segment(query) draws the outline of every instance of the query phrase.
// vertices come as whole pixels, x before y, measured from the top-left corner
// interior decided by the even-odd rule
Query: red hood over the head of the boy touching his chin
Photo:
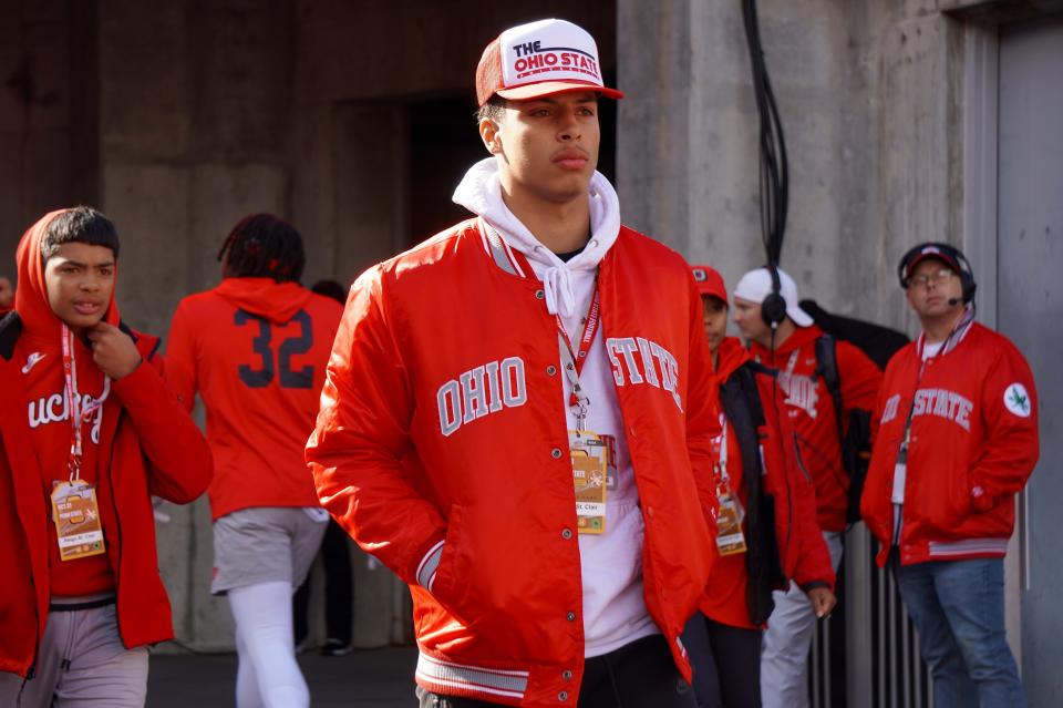
[[[48,286],[44,284],[44,261],[41,258],[41,242],[44,230],[52,219],[68,212],[59,209],[42,216],[19,242],[16,250],[16,264],[19,271],[18,289],[14,291],[14,309],[22,320],[25,334],[34,339],[45,339],[56,348],[60,346],[62,320],[52,311],[48,301]],[[104,321],[118,326],[118,306],[114,301],[117,291],[118,265],[114,266],[115,287],[111,291],[111,302],[104,312]]]

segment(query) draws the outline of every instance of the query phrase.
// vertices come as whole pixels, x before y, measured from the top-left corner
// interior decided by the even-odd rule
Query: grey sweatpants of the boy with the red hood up
[[[0,673],[6,707],[143,708],[146,698],[147,648],[122,646],[114,605],[48,613],[33,678]]]

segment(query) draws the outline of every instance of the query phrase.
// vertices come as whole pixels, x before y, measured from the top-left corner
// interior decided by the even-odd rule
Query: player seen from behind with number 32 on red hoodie
[[[324,534],[303,448],[342,307],[299,284],[302,237],[287,222],[241,219],[218,259],[221,283],[184,298],[166,376],[185,407],[196,392],[214,450],[214,578],[236,620],[236,702],[307,706],[295,658],[291,595]]]

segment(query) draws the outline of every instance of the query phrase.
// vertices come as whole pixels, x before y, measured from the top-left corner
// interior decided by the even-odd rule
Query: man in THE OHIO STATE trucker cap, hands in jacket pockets
[[[410,584],[422,706],[693,706],[712,365],[685,261],[595,171],[600,72],[561,20],[487,47],[476,218],[363,274],[329,361],[307,455]]]

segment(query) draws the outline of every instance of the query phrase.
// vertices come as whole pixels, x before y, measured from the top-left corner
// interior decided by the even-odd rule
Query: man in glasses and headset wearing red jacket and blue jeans
[[[898,268],[922,334],[894,355],[861,499],[933,676],[938,708],[1026,705],[1004,636],[1004,552],[1038,462],[1038,394],[1022,353],[974,321],[957,248]]]

